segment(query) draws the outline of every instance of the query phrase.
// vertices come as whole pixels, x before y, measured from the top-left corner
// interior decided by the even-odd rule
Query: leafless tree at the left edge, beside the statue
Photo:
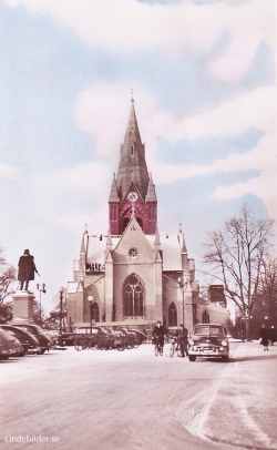
[[[6,321],[11,316],[11,303],[6,300],[14,294],[14,282],[17,279],[17,270],[9,265],[3,257],[3,249],[0,248],[0,317]]]

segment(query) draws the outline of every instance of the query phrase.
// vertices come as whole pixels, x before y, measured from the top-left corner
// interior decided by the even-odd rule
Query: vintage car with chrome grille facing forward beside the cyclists
[[[222,358],[227,361],[229,357],[229,342],[227,330],[218,324],[197,324],[193,334],[188,336],[187,354],[189,361],[196,357]]]

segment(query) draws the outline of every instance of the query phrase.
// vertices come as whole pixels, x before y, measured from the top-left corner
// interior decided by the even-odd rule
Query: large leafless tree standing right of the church
[[[204,263],[212,268],[208,275],[224,285],[226,297],[237,306],[245,319],[247,339],[263,260],[270,247],[271,225],[269,219],[255,221],[252,211],[244,205],[239,216],[227,221],[222,232],[208,234],[206,244]]]

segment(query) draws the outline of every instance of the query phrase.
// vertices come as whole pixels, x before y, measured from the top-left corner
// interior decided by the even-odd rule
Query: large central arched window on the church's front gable
[[[144,287],[135,274],[130,275],[123,284],[123,308],[125,317],[144,316]]]

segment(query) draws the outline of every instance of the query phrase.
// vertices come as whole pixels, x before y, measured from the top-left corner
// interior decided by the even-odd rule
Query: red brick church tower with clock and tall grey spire
[[[112,235],[122,235],[132,215],[135,216],[145,235],[156,231],[157,200],[152,175],[145,161],[145,145],[142,143],[136,121],[134,100],[121,145],[121,158],[117,174],[109,198],[109,222]]]

